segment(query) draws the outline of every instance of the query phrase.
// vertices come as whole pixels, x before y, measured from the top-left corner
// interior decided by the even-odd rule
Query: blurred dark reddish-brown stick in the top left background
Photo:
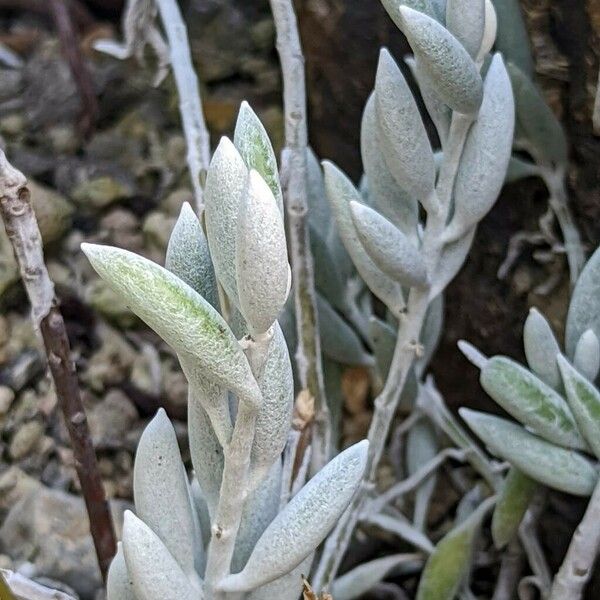
[[[84,135],[89,135],[96,124],[99,113],[94,82],[81,53],[78,35],[71,21],[69,6],[65,0],[50,0],[50,7],[63,53],[69,62],[81,97],[79,126]]]

